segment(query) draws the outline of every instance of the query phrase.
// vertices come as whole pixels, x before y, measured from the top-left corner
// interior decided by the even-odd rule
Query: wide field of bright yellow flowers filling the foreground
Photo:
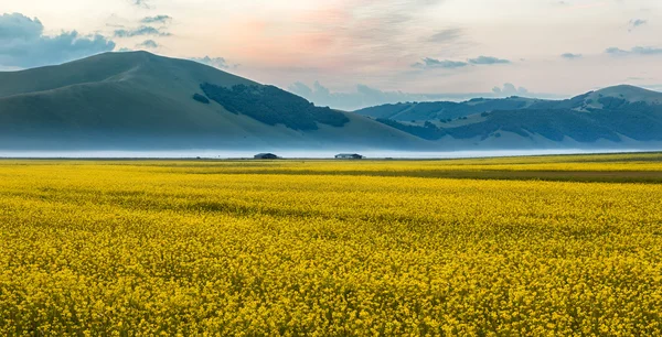
[[[0,335],[659,336],[661,173],[0,161]]]

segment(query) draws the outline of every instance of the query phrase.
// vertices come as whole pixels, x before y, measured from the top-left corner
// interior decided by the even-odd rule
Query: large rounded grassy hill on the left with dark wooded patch
[[[2,150],[420,149],[273,86],[147,52],[0,73]]]

